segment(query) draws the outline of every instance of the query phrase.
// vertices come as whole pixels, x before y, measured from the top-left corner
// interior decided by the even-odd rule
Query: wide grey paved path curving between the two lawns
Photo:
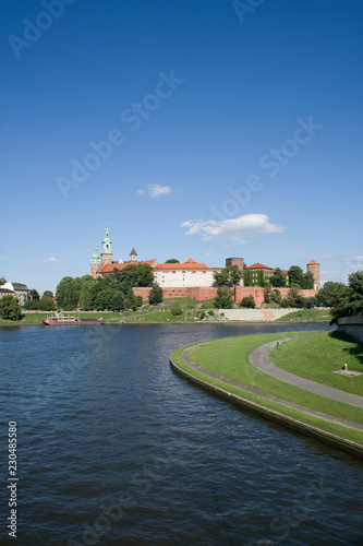
[[[278,342],[285,343],[291,340],[297,340],[298,337],[302,336],[294,335],[293,337],[283,337],[282,340],[278,340]],[[293,384],[294,387],[299,387],[300,389],[304,389],[305,391],[313,392],[314,394],[318,394],[319,396],[336,400],[337,402],[343,402],[344,404],[350,404],[363,410],[363,396],[340,391],[339,389],[317,383],[316,381],[312,381],[311,379],[304,379],[302,377],[295,376],[294,373],[291,373],[290,371],[282,370],[278,366],[275,366],[275,364],[273,364],[269,359],[269,353],[274,347],[276,347],[276,341],[265,343],[264,345],[261,345],[261,347],[257,347],[255,351],[253,351],[250,355],[250,363],[252,364],[252,366],[257,368],[259,371],[267,373],[267,376],[279,379],[280,381],[283,381],[286,383]]]

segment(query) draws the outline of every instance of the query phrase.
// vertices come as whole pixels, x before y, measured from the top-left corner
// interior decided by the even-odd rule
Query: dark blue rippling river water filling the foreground
[[[0,329],[0,545],[363,544],[360,461],[244,413],[169,365],[186,343],[295,330]],[[16,542],[7,538],[9,422]]]

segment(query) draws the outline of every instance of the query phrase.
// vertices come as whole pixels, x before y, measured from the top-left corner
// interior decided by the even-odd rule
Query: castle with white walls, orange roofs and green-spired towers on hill
[[[121,271],[126,265],[137,263],[147,263],[150,265],[154,270],[155,282],[161,288],[171,290],[170,294],[172,295],[176,295],[176,290],[182,288],[210,288],[215,284],[214,273],[222,271],[222,268],[208,268],[205,263],[196,262],[192,258],[183,263],[159,263],[156,258],[138,261],[134,248],[131,250],[128,261],[123,261],[122,259],[114,261],[110,230],[107,226],[100,254],[97,244],[95,245],[90,260],[90,274],[94,278],[97,278],[112,273],[113,269]],[[276,271],[274,268],[262,263],[254,263],[245,268],[243,258],[227,258],[226,268],[231,265],[238,265],[241,271],[244,269],[250,270],[252,272],[253,284],[257,284],[258,272],[263,272],[263,275],[268,278]],[[315,260],[312,260],[306,264],[306,271],[312,272],[314,290],[317,290],[319,288],[319,264]],[[288,271],[282,270],[282,273],[286,275],[288,286]]]

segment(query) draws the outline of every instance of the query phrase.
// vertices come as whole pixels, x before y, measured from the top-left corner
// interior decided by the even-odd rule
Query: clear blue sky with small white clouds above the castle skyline
[[[0,276],[363,269],[359,0],[2,0]]]

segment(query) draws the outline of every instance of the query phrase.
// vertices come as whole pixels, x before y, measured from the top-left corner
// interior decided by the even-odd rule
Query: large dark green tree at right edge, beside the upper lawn
[[[363,271],[348,277],[348,286],[339,285],[332,293],[331,322],[341,317],[363,314]]]

